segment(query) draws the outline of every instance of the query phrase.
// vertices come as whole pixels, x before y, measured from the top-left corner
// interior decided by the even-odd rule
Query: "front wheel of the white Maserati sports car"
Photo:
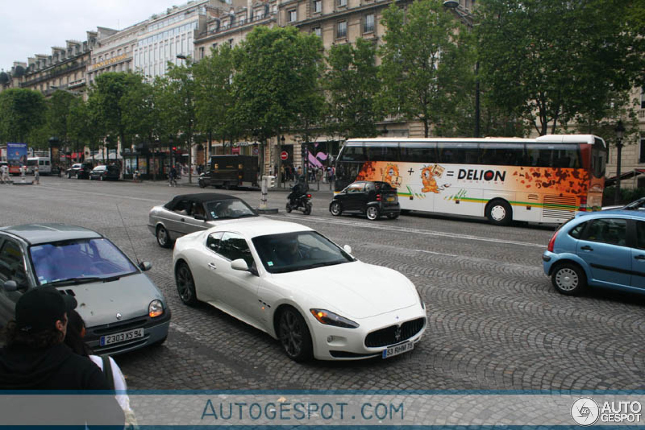
[[[312,358],[312,336],[303,316],[296,309],[286,308],[280,313],[278,333],[287,357],[295,362]]]

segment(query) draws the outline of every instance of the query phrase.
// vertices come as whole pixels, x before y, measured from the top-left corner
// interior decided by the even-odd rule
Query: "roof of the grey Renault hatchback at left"
[[[97,239],[103,237],[103,235],[93,230],[55,222],[6,226],[1,227],[0,232],[20,237],[32,245],[58,242],[59,240]]]

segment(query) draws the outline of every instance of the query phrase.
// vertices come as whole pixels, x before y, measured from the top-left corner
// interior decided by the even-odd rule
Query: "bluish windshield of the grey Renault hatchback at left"
[[[39,284],[69,280],[113,279],[137,273],[137,268],[107,239],[80,239],[29,248]]]

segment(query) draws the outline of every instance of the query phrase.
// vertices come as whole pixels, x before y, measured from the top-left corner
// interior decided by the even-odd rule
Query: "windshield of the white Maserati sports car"
[[[297,231],[253,238],[253,246],[269,273],[321,268],[353,258],[315,231]]]

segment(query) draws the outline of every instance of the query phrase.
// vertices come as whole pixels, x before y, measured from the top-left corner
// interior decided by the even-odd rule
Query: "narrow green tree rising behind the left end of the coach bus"
[[[329,93],[330,128],[346,139],[378,134],[376,122],[382,117],[375,102],[380,88],[375,55],[375,45],[361,37],[355,44],[329,50],[324,88]]]

